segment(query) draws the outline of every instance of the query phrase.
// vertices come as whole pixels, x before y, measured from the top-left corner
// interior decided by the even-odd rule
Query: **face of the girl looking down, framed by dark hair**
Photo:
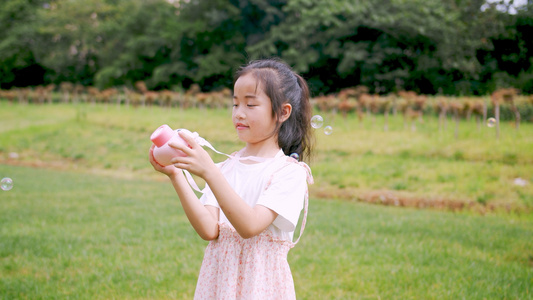
[[[247,146],[277,145],[276,118],[272,103],[255,77],[248,73],[237,79],[233,91],[233,125]]]

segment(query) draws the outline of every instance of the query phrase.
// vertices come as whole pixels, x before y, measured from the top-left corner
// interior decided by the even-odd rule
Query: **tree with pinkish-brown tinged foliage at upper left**
[[[92,85],[105,44],[105,22],[117,14],[116,6],[101,0],[57,0],[39,10],[38,43],[32,51],[50,70],[50,79]]]

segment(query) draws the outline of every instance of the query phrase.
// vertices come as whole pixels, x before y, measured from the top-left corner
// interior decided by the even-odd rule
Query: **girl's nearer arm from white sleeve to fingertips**
[[[174,166],[202,177],[209,184],[220,208],[241,237],[254,237],[274,222],[278,215],[276,212],[262,205],[250,207],[229,185],[209,154],[192,137],[182,132],[179,134],[191,148],[169,144],[187,154],[186,157],[174,158]]]

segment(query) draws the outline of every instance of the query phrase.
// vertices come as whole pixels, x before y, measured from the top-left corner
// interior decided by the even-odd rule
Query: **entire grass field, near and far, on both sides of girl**
[[[533,299],[533,124],[324,120],[299,299]],[[227,110],[0,101],[0,299],[192,298],[207,242],[147,160],[161,124],[242,147]],[[431,203],[475,209],[395,207]]]

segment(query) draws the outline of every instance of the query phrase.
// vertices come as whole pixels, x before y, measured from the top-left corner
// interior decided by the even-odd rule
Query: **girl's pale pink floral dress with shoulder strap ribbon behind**
[[[312,183],[309,167],[305,167],[308,182]],[[300,236],[308,202],[306,192]],[[218,238],[209,242],[205,250],[194,299],[296,299],[287,254],[300,237],[292,242],[275,237],[266,229],[243,239],[227,223],[220,223],[219,229]]]

